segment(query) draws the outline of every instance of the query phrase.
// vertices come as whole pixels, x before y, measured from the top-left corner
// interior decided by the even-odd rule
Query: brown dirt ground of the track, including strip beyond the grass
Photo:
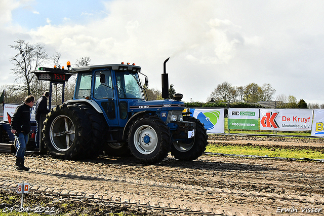
[[[324,146],[323,139],[228,135],[210,136],[209,143],[316,151]],[[211,155],[184,162],[169,155],[158,164],[143,165],[134,158],[63,161],[31,155],[26,158],[30,171],[18,171],[14,160],[13,154],[0,154],[0,202],[8,201],[6,194],[14,196],[17,184],[25,181],[29,183],[26,200],[33,210],[48,207],[56,214],[69,211],[69,215],[120,211],[135,215],[324,215],[322,162]]]

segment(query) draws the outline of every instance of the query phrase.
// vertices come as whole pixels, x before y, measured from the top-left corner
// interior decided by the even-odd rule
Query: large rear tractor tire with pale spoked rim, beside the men
[[[55,158],[76,160],[87,157],[91,126],[85,112],[72,104],[54,107],[44,121],[44,141]]]

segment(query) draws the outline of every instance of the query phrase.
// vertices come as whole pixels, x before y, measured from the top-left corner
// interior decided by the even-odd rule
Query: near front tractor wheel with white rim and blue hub
[[[128,145],[132,155],[142,163],[157,163],[168,156],[171,133],[158,117],[139,117],[130,126]]]

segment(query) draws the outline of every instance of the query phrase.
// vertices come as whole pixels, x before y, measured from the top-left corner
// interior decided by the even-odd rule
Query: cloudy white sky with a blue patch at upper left
[[[170,57],[169,85],[186,102],[228,82],[324,103],[322,0],[0,0],[0,37],[0,86],[14,84],[9,45],[25,40],[62,66],[136,63],[158,90]]]

